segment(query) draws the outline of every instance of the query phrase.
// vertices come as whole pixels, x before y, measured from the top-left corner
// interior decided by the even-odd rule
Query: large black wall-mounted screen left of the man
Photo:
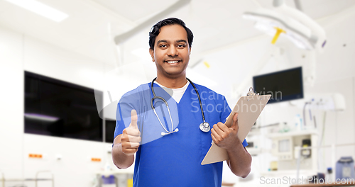
[[[94,89],[40,74],[25,72],[24,120],[25,133],[103,141]]]

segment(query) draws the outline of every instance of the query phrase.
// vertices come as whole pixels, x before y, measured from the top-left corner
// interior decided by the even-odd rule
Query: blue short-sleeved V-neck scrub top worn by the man
[[[138,114],[141,146],[136,153],[133,186],[222,186],[222,162],[201,165],[211,147],[211,132],[202,132],[200,103],[190,84],[179,103],[153,84],[156,96],[168,102],[174,129],[178,132],[161,136],[165,132],[151,108],[151,83],[129,91],[119,101],[114,137],[131,123],[131,110]],[[231,109],[224,96],[195,84],[200,93],[204,117],[211,125],[224,123]],[[155,111],[169,131],[173,130],[170,115],[163,102],[155,103]],[[243,142],[244,147],[247,144]]]

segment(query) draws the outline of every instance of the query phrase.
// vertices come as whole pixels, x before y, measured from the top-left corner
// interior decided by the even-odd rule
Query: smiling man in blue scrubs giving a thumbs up
[[[192,40],[191,30],[178,18],[156,23],[149,52],[157,77],[119,101],[112,158],[125,169],[136,154],[133,186],[222,186],[222,162],[201,165],[212,140],[226,149],[226,162],[236,176],[250,172],[247,143],[237,137],[237,114],[226,127],[231,109],[224,96],[186,78]]]

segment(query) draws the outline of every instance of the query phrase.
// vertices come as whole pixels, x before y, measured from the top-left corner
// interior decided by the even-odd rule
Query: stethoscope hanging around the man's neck
[[[173,130],[173,129],[174,129],[173,118],[171,118],[171,113],[170,113],[170,109],[169,109],[168,102],[166,102],[163,97],[160,97],[160,96],[156,96],[156,95],[155,95],[155,92],[154,92],[154,89],[153,89],[153,83],[154,83],[155,79],[156,79],[156,77],[153,79],[152,84],[151,84],[151,91],[152,91],[152,93],[153,93],[153,98],[151,99],[151,107],[152,107],[152,109],[153,109],[153,111],[154,111],[156,117],[158,118],[160,125],[161,125],[161,126],[163,127],[163,129],[166,131],[166,132],[161,132],[161,135],[162,135],[162,136],[170,135],[170,134],[173,133],[173,132],[178,132],[179,129],[176,128],[175,130]],[[186,78],[186,79],[187,79],[187,78]],[[190,79],[187,79],[187,81],[190,81]],[[197,97],[199,98],[199,102],[200,102],[200,108],[201,108],[202,120],[203,120],[203,122],[200,124],[200,130],[202,130],[202,132],[209,132],[209,130],[211,129],[211,127],[209,126],[209,123],[207,123],[206,120],[204,120],[204,113],[203,113],[203,108],[202,108],[202,103],[201,103],[200,94],[199,94],[199,92],[197,91],[195,84],[192,83],[192,81],[190,81],[190,84],[191,84],[192,86],[194,86],[194,89],[195,89],[195,91],[196,91]],[[169,116],[170,116],[171,130],[172,130],[172,131],[168,131],[168,130],[164,127],[163,123],[161,123],[160,118],[159,118],[158,114],[157,114],[156,111],[155,111],[155,107],[154,107],[154,104],[153,104],[154,99],[160,99],[160,100],[161,100],[160,102],[165,103],[166,108],[168,108],[168,113],[169,113]],[[157,101],[157,102],[159,102],[159,101]],[[155,103],[156,103],[156,102],[155,102]]]

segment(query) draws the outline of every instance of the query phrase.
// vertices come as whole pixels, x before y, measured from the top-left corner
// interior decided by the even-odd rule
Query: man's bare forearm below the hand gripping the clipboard
[[[236,176],[245,178],[251,171],[251,155],[246,152],[241,142],[234,149],[227,150],[229,160],[227,164]]]

